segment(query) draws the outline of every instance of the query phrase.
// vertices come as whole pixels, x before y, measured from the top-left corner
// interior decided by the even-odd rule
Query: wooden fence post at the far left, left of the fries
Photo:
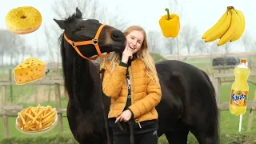
[[[6,106],[7,102],[7,94],[6,94],[6,86],[2,86],[2,106]],[[9,137],[9,125],[8,125],[8,117],[7,115],[2,115],[3,122],[3,137]]]

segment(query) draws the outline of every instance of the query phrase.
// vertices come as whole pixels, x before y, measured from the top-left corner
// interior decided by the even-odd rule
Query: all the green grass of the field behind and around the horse
[[[155,56],[155,58],[162,60],[163,58],[160,56]],[[194,66],[199,67],[202,70],[208,70],[206,72],[208,72],[208,74],[212,74],[213,70],[211,67],[211,61],[210,59],[205,59],[202,60],[194,58],[194,59],[190,59],[190,60],[186,60],[184,62],[188,62]],[[7,71],[7,70],[6,70]],[[232,70],[230,70],[232,71]],[[214,72],[216,73],[216,72]],[[1,78],[6,78],[8,77],[8,73],[5,72],[5,74],[2,74],[0,72],[0,80]],[[229,102],[230,100],[230,88],[231,88],[231,83],[226,83],[226,84],[222,84],[221,86],[221,102]],[[37,90],[35,89],[34,86],[30,86],[30,85],[24,85],[24,86],[13,86],[13,95],[14,95],[14,103],[15,104],[22,104],[25,107],[26,106],[36,106],[38,105],[38,103],[33,103],[33,102],[27,102],[27,101],[18,101],[19,97],[22,98],[30,98],[31,94],[34,94]],[[252,100],[254,98],[254,90],[256,90],[256,86],[250,84],[250,92],[249,92],[249,99]],[[1,92],[1,90],[0,90]],[[10,88],[7,88],[7,94],[10,95]],[[1,94],[0,94],[1,95]],[[39,97],[46,97],[45,95],[39,95]],[[0,96],[1,98],[1,96]],[[8,98],[8,102],[10,102],[10,98]],[[41,102],[40,103],[42,106],[54,106],[55,107],[55,102]],[[66,108],[66,99],[62,98],[62,108]],[[222,143],[242,143],[244,141],[244,139],[247,139],[247,141],[249,143],[254,143],[255,138],[254,138],[254,134],[256,135],[256,122],[253,122],[253,126],[252,126],[252,130],[251,133],[247,133],[246,129],[247,129],[247,121],[248,121],[248,116],[249,116],[249,111],[246,111],[246,114],[243,115],[242,118],[242,134],[250,134],[250,136],[245,137],[242,134],[238,133],[238,122],[239,122],[239,117],[238,116],[234,116],[232,114],[230,114],[229,110],[226,111],[222,111],[221,113],[221,134],[222,134]],[[254,116],[255,119],[256,116]],[[26,135],[26,134],[22,134],[21,132],[19,132],[15,127],[14,127],[14,122],[15,122],[15,117],[9,117],[8,118],[8,122],[9,122],[9,133],[10,133],[10,137],[11,138],[38,138],[37,141],[43,141],[45,138],[43,137],[53,137],[56,139],[56,134],[58,134],[58,130],[57,130],[57,126],[54,127],[53,130],[51,130],[50,132],[47,132],[43,135]],[[70,138],[72,137],[72,135],[70,135],[70,129],[68,126],[68,122],[66,120],[65,114],[63,117],[63,128],[64,128],[64,133],[63,134],[58,134],[59,138],[58,141],[62,142],[62,139],[65,138]],[[2,130],[3,126],[2,126],[2,118],[0,118],[0,140],[3,138],[2,135]],[[63,136],[64,135],[64,136]],[[256,137],[256,136],[255,136]],[[197,143],[194,139],[194,136],[192,134],[190,134],[189,136],[190,139],[190,143]],[[226,141],[229,142],[225,142],[225,139],[228,139]],[[248,140],[249,139],[249,140]],[[56,140],[57,141],[57,140]],[[2,141],[3,142],[3,141]],[[5,141],[7,142],[7,140]],[[69,141],[70,143],[74,143],[73,140]],[[1,142],[0,142],[1,143]],[[18,140],[17,140],[18,143]],[[24,140],[24,142],[22,143],[26,143],[26,139]],[[46,143],[46,141],[44,141],[43,143]],[[58,142],[56,142],[58,143]],[[68,142],[67,142],[68,143]],[[162,138],[159,139],[159,143],[166,143],[166,138],[163,136]]]

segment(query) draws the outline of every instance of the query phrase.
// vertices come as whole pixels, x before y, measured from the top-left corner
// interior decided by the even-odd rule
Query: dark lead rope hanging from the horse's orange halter
[[[106,58],[103,58],[102,66],[100,67],[100,70],[98,70],[98,73],[102,74],[102,76],[101,76],[101,81],[102,82],[103,82],[103,78],[104,78],[104,72],[106,70],[105,62],[106,62]],[[102,90],[102,84],[100,85],[100,88]],[[111,144],[109,125],[108,125],[107,118],[106,118],[105,106],[104,106],[104,102],[103,102],[104,98],[103,97],[104,97],[104,95],[103,95],[103,91],[102,91],[102,110],[103,110],[103,117],[104,117],[104,123],[105,123],[105,128],[106,128],[106,138],[107,138],[108,144]]]

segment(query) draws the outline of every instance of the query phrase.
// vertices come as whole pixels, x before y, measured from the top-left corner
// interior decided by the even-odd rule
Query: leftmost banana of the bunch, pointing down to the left
[[[222,23],[222,26],[212,30],[210,34],[207,35],[205,38],[205,42],[213,42],[218,38],[222,38],[222,35],[226,33],[227,30],[229,30],[231,24],[231,13],[229,9],[229,13],[226,16],[225,21]]]

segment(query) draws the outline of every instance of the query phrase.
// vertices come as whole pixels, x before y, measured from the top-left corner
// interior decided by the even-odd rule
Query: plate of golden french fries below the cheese
[[[18,112],[17,126],[23,131],[41,131],[54,124],[56,113],[51,106],[29,106]]]

